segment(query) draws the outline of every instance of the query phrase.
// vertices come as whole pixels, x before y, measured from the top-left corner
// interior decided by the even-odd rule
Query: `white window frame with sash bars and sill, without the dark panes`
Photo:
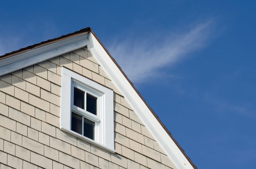
[[[97,97],[97,115],[73,105],[74,87]],[[60,106],[60,130],[76,136],[88,143],[96,145],[104,150],[115,152],[114,149],[114,105],[113,90],[100,85],[76,72],[62,67],[61,76],[61,106]],[[71,113],[74,111],[95,122],[94,140],[80,135],[71,130]],[[98,122],[98,126],[96,123]],[[97,128],[97,129],[96,129]]]

